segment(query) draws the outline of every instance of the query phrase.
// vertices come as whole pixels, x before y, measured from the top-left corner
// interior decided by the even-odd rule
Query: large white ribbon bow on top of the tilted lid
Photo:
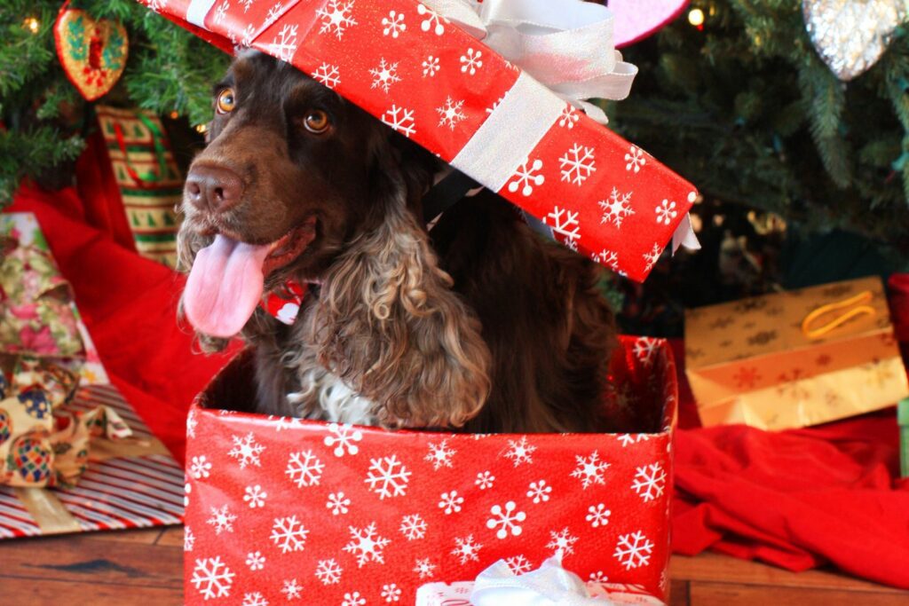
[[[628,96],[637,67],[613,44],[614,17],[583,0],[424,0],[425,5],[519,65],[554,94],[601,124],[586,99]]]

